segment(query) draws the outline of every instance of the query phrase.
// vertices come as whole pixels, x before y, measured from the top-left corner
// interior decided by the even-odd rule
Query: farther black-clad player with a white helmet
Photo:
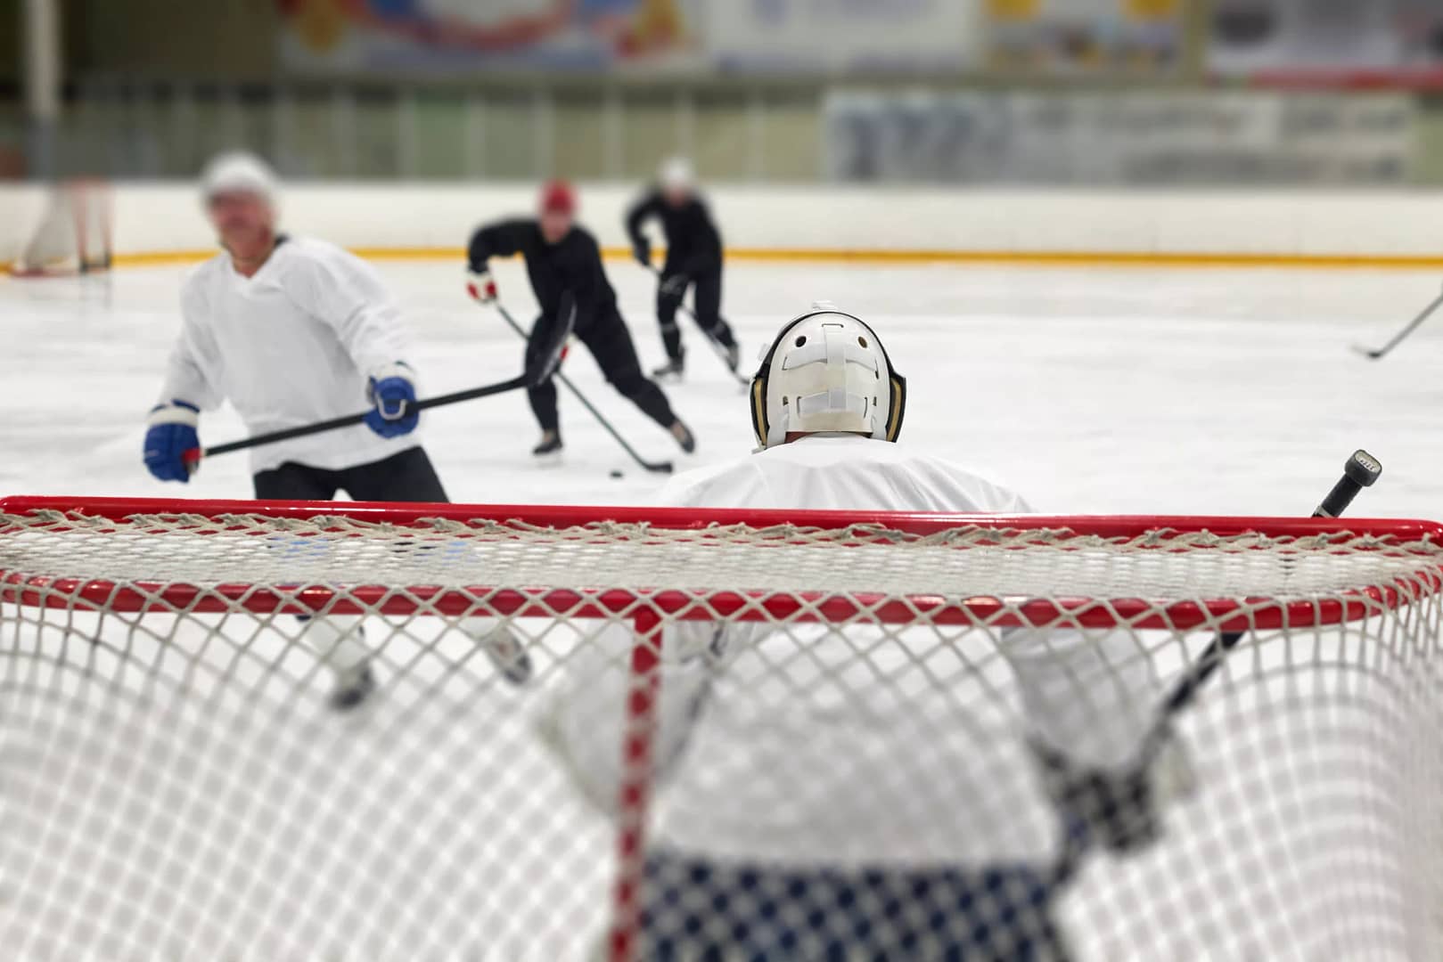
[[[688,287],[696,287],[697,325],[726,350],[727,365],[736,371],[740,352],[732,329],[722,320],[722,234],[707,205],[697,196],[696,175],[685,159],[674,157],[664,163],[657,186],[626,215],[632,254],[646,268],[651,268],[651,241],[642,228],[651,219],[661,221],[667,238],[667,262],[657,290],[657,322],[667,345],[667,363],[655,375],[680,376],[684,369],[677,309]]]

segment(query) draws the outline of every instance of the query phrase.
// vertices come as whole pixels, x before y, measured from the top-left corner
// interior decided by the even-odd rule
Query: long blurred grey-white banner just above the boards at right
[[[1392,185],[1405,94],[834,94],[833,180],[1010,185]]]

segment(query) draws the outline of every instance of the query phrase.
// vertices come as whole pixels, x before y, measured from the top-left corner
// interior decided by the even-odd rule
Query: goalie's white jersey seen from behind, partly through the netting
[[[857,436],[812,436],[685,475],[664,499],[1029,511],[983,477]],[[551,720],[573,776],[603,808],[613,806],[620,775],[633,640],[615,629]],[[1139,637],[1124,632],[801,623],[719,632],[688,622],[665,630],[661,658],[649,844],[763,864],[1046,864],[1056,857],[1058,816],[1026,737],[1121,769],[1136,760],[1159,698]]]

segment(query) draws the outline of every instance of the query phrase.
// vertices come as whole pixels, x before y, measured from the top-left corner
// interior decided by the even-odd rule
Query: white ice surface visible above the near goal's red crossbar
[[[378,267],[414,327],[423,394],[519,371],[519,340],[468,300],[460,264]],[[152,480],[140,463],[185,270],[0,280],[0,492],[250,495],[245,454],[215,459],[183,487]],[[662,361],[655,283],[631,262],[609,273],[649,369]],[[501,264],[498,281],[530,323],[519,264]],[[749,366],[812,300],[859,313],[908,376],[905,443],[994,476],[1048,512],[1306,513],[1367,447],[1385,473],[1355,511],[1431,518],[1443,515],[1443,320],[1380,362],[1348,348],[1381,345],[1437,291],[1439,278],[1417,271],[737,262],[724,310]],[[684,329],[688,374],[668,394],[701,447],[678,467],[742,457],[752,447],[746,395]],[[566,374],[648,457],[680,454],[602,382],[584,349]],[[453,500],[652,499],[661,479],[631,464],[564,391],[561,417],[567,450],[554,467],[532,463],[538,430],[521,394],[433,411],[423,430]],[[202,418],[208,444],[242,436],[228,411]],[[612,480],[612,469],[625,477]]]

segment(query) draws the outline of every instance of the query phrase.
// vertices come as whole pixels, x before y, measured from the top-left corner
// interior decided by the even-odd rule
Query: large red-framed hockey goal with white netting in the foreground
[[[0,500],[0,942],[1439,958],[1440,538]],[[1136,769],[1221,630],[1247,633],[1150,766],[1157,839],[1069,844],[1101,812],[1027,746]],[[359,659],[378,687],[338,712]]]

